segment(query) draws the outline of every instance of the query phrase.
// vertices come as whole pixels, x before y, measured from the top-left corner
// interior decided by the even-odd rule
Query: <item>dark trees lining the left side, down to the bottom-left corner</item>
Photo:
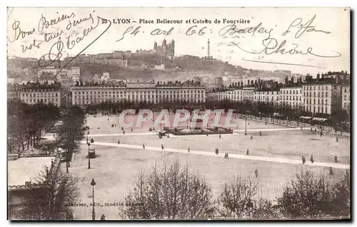
[[[24,139],[29,139],[29,145],[37,145],[41,139],[41,132],[48,132],[55,122],[61,120],[56,135],[55,147],[66,151],[67,167],[74,152],[79,152],[79,142],[84,137],[84,111],[78,106],[64,110],[60,115],[59,108],[53,105],[26,105],[23,102],[10,102],[9,106],[9,134],[8,147],[11,153],[24,151]],[[21,135],[21,130],[23,130]],[[18,140],[19,139],[19,140]],[[22,144],[21,144],[22,143]],[[15,145],[22,147],[16,149]],[[24,195],[24,206],[16,212],[19,219],[31,220],[68,220],[73,219],[73,211],[69,204],[76,203],[79,198],[78,180],[71,174],[58,169],[44,169],[34,179],[32,189]],[[67,168],[68,170],[68,168]]]

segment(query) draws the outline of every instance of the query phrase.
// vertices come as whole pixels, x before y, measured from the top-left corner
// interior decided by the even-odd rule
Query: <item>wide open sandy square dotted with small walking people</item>
[[[136,115],[129,117],[134,121]],[[130,118],[126,119],[126,122],[130,121]],[[99,203],[95,208],[96,218],[104,214],[106,219],[120,219],[118,206],[133,189],[139,171],[149,172],[154,164],[160,166],[175,159],[206,177],[214,199],[224,182],[236,176],[258,183],[258,196],[274,200],[281,195],[288,180],[301,169],[310,169],[316,175],[324,174],[331,181],[349,169],[349,137],[338,135],[336,142],[336,134],[323,134],[321,137],[314,127],[311,131],[310,125],[286,127],[253,120],[246,122],[238,117],[233,117],[231,122],[237,125],[232,128],[233,134],[169,134],[169,137],[160,139],[159,131],[164,125],[150,131],[152,122],[145,122],[139,128],[122,129],[118,116],[89,115],[86,121],[88,139],[94,139],[91,149],[96,150],[96,157],[91,159],[91,169],[88,169],[89,147],[84,138],[81,152],[74,154],[69,168],[79,179],[81,191],[82,206],[74,207],[75,218],[91,217],[92,179],[96,181],[95,202]],[[187,127],[188,123],[181,122],[180,126]],[[219,154],[215,154],[215,149]],[[249,155],[246,155],[247,149]],[[224,153],[228,153],[228,159],[223,159]],[[308,161],[311,155],[315,160],[313,163]],[[307,159],[304,165],[301,164],[301,156]],[[335,156],[338,163],[333,160]],[[333,175],[328,175],[330,167],[333,167]],[[254,174],[256,169],[258,177]]]

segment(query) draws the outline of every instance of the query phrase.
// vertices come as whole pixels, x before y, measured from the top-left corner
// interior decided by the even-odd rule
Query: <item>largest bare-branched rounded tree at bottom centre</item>
[[[196,219],[214,213],[206,179],[181,167],[178,160],[162,169],[155,164],[149,174],[141,171],[125,202],[128,206],[119,208],[119,214],[129,219]]]

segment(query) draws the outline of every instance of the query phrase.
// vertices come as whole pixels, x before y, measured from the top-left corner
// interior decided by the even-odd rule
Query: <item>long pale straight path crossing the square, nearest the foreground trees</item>
[[[86,141],[82,141],[82,144],[86,144]],[[131,149],[143,149],[142,145],[134,145],[134,144],[116,144],[110,142],[94,142],[94,145],[99,146],[109,146],[109,147],[125,147]],[[184,153],[188,154],[187,149],[173,149],[173,148],[164,148],[161,147],[149,147],[145,146],[145,149],[149,149],[151,151],[156,152],[176,152],[176,153]],[[144,151],[144,149],[143,149]],[[244,151],[242,151],[243,153]],[[189,154],[198,154],[198,155],[206,155],[212,157],[224,157],[224,151],[220,151],[219,154],[215,154],[214,152],[203,152],[197,150],[190,150]],[[230,159],[248,159],[248,160],[256,160],[256,161],[263,161],[263,162],[278,162],[278,163],[286,163],[286,164],[301,164],[301,160],[296,159],[282,159],[282,158],[273,158],[273,157],[263,157],[263,156],[253,156],[253,155],[242,155],[242,154],[228,154],[228,158]],[[333,167],[336,169],[350,169],[350,165],[348,164],[338,164],[338,163],[327,163],[327,162],[306,162],[307,166],[313,167]]]

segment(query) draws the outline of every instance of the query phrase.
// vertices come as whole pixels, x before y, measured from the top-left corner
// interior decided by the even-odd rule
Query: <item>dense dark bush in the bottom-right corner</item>
[[[336,184],[311,171],[296,174],[278,198],[278,206],[291,218],[341,216],[350,213],[350,181],[346,173]]]

